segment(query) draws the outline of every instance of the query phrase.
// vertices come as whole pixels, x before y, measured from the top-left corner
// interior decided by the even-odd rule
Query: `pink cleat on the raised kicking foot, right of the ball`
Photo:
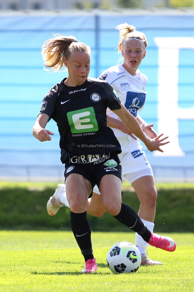
[[[160,236],[153,232],[148,243],[152,246],[155,246],[156,248],[161,248],[162,250],[167,251],[174,251],[176,248],[175,241],[172,238]]]

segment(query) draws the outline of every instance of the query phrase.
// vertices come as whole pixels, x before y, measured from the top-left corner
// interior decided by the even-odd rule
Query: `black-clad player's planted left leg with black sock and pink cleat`
[[[87,199],[92,192],[91,182],[82,175],[73,173],[66,177],[65,185],[71,210],[71,228],[86,262],[82,273],[95,272],[97,265],[93,256],[91,230],[86,217]]]

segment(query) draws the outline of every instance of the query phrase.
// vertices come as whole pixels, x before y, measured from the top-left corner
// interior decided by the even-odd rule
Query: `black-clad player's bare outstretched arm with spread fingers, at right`
[[[158,150],[160,152],[163,152],[163,150],[160,149],[160,146],[165,145],[169,142],[164,142],[164,143],[161,143],[161,142],[167,139],[168,137],[165,137],[159,140],[159,138],[163,135],[161,134],[160,136],[157,136],[154,139],[149,139],[144,134],[136,118],[132,114],[130,114],[130,112],[128,112],[128,110],[124,107],[122,103],[121,103],[121,109],[113,110],[113,112],[116,113],[116,115],[118,115],[121,121],[125,124],[125,126],[131,132],[133,132],[142,142],[144,142],[148,150],[150,151]]]

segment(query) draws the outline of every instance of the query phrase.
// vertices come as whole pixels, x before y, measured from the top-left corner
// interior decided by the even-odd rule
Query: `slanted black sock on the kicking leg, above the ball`
[[[148,242],[151,237],[151,231],[147,229],[144,222],[139,218],[137,213],[128,205],[121,203],[121,211],[118,215],[113,216],[119,222],[126,225],[133,231],[137,232],[141,237]]]

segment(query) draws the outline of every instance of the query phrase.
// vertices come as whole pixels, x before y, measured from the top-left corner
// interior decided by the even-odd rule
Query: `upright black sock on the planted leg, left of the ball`
[[[70,212],[71,228],[85,261],[94,258],[91,230],[86,214],[86,211],[84,213]]]

